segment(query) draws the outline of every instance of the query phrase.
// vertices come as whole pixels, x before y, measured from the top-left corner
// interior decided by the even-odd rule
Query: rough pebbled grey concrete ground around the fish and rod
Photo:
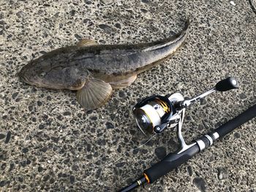
[[[252,1],[255,4],[255,1]],[[22,66],[79,39],[135,44],[168,37],[189,17],[184,47],[108,104],[84,112],[75,92],[26,85]],[[187,110],[187,141],[255,104],[256,15],[249,1],[0,0],[0,191],[117,191],[177,147],[146,141],[132,106],[157,93],[195,96],[228,76],[240,88]],[[256,191],[256,120],[138,191]]]

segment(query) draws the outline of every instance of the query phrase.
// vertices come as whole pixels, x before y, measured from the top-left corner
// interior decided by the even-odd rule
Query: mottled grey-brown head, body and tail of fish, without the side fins
[[[187,38],[189,20],[173,37],[138,45],[62,47],[23,67],[23,81],[45,88],[78,90],[89,75],[105,82],[130,77],[159,64],[181,47]],[[64,80],[67,79],[67,80]]]

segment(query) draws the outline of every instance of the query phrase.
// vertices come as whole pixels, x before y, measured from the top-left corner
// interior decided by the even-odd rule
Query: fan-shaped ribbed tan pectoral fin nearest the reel
[[[90,79],[83,88],[78,90],[77,99],[86,110],[94,110],[105,104],[110,99],[112,92],[108,82]]]

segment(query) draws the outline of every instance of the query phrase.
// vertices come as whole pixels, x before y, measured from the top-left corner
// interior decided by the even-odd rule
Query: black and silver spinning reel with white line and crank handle
[[[181,144],[181,153],[189,147],[181,135],[185,109],[210,93],[229,91],[234,88],[238,88],[237,80],[234,77],[228,77],[225,80],[219,81],[211,90],[193,99],[185,100],[181,93],[174,93],[171,96],[149,96],[136,104],[132,112],[143,134],[159,134],[165,128],[178,126],[177,137]]]

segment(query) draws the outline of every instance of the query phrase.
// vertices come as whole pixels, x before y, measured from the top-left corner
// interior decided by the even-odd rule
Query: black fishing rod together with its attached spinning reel
[[[174,93],[171,96],[149,96],[136,104],[132,111],[135,115],[136,123],[140,130],[143,131],[143,134],[159,134],[166,128],[177,127],[176,133],[180,147],[175,152],[165,156],[162,161],[146,169],[140,178],[135,180],[131,185],[122,188],[119,192],[132,191],[144,183],[154,183],[159,177],[176,169],[177,166],[184,164],[184,162],[188,161],[195,154],[212,145],[219,137],[224,137],[238,126],[246,123],[246,121],[255,118],[256,104],[245,112],[242,112],[236,118],[219,126],[214,131],[195,139],[191,144],[187,145],[184,141],[181,128],[186,108],[195,103],[195,101],[208,96],[210,93],[229,91],[236,88],[238,88],[238,81],[234,77],[228,77],[225,80],[217,82],[211,90],[193,99],[185,100],[181,93]]]

